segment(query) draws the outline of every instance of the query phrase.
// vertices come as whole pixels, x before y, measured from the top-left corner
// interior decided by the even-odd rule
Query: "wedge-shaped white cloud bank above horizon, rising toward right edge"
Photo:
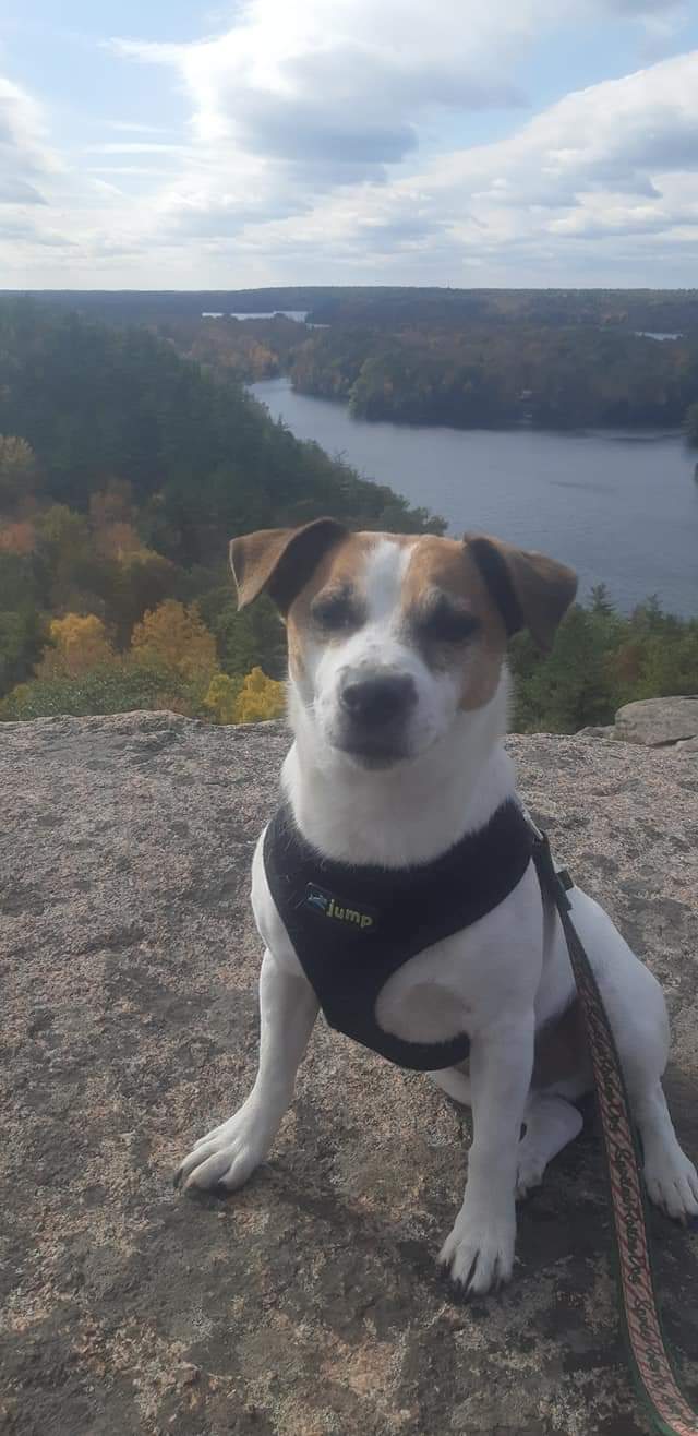
[[[697,95],[698,52],[567,95],[506,139],[338,192],[250,238],[271,254],[389,261],[422,281],[480,271],[481,283],[589,283],[593,261],[596,283],[658,283],[668,253],[691,237],[698,247]]]

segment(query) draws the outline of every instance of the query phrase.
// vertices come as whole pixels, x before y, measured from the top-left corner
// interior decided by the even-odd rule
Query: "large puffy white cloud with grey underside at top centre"
[[[251,0],[225,34],[194,45],[113,42],[131,59],[174,67],[191,132],[231,168],[244,154],[293,167],[326,191],[385,180],[419,125],[448,111],[517,106],[516,62],[536,27],[569,0]]]

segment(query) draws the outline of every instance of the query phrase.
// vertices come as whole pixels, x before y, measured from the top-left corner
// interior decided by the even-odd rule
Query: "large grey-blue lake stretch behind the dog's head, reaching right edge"
[[[468,528],[570,563],[628,612],[651,593],[698,615],[698,452],[679,434],[406,428],[352,419],[287,379],[251,385],[274,418],[366,478]]]

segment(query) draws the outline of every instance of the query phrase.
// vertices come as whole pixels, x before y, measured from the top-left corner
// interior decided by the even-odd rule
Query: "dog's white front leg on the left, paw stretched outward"
[[[289,972],[266,951],[260,974],[260,1066],[240,1111],[201,1137],[184,1159],[177,1185],[228,1192],[264,1160],[293,1099],[296,1073],[317,1017],[303,974]]]

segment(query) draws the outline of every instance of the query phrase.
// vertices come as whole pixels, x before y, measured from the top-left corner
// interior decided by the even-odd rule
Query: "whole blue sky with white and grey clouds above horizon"
[[[0,286],[698,286],[698,0],[3,0]]]

